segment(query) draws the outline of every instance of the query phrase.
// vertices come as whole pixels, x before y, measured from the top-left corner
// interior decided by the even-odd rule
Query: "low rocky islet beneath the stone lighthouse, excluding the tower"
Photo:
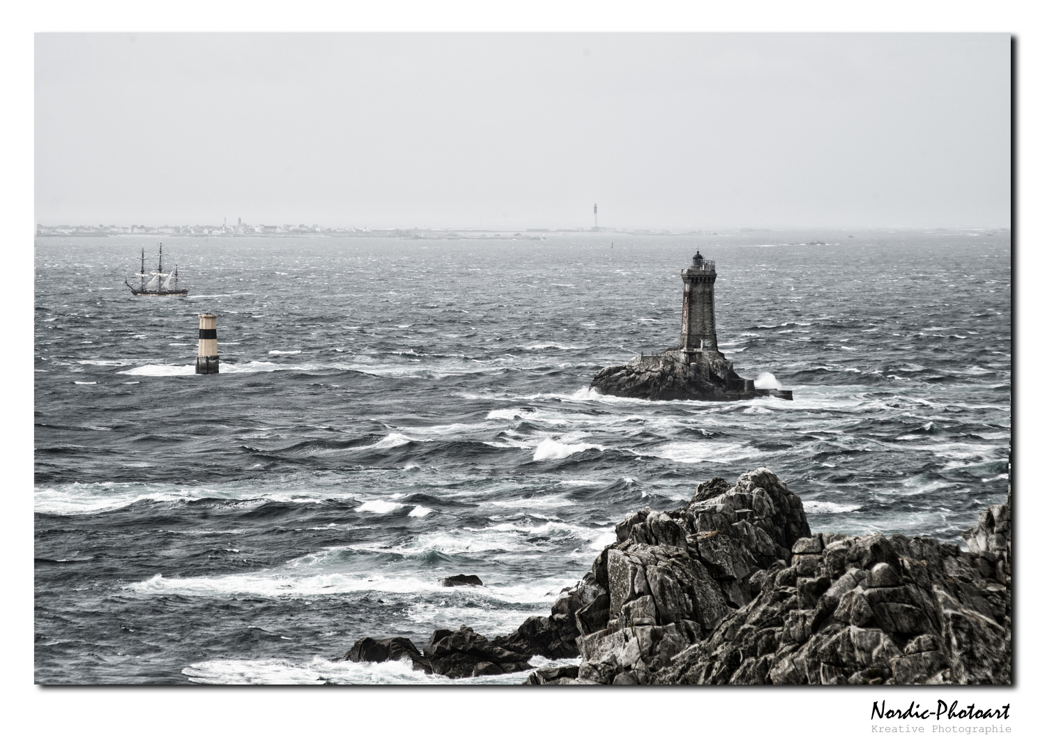
[[[791,390],[757,389],[754,381],[734,371],[733,362],[718,350],[669,348],[636,356],[621,366],[602,369],[591,380],[591,389],[618,397],[658,401],[793,400]]]

